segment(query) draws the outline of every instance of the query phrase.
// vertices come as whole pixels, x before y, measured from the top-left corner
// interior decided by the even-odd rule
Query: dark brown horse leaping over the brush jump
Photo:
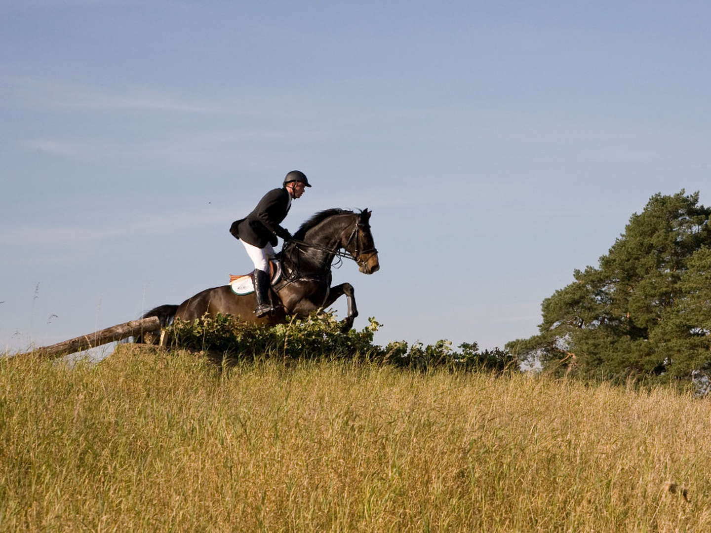
[[[353,259],[363,274],[373,274],[380,269],[378,249],[370,232],[371,214],[367,208],[360,212],[334,208],[317,212],[306,220],[277,254],[283,276],[272,286],[271,297],[276,294],[281,306],[270,315],[255,316],[257,301],[254,293],[238,295],[231,286],[224,285],[205,289],[179,306],[158,306],[141,318],[157,316],[161,326],[165,326],[176,318],[193,321],[205,313],[208,316],[220,313],[246,322],[276,325],[285,323],[287,315],[305,318],[314,311],[328,308],[345,294],[348,315],[341,321],[341,331],[346,333],[353,327],[358,307],[351,284],[331,286],[331,266],[338,257]],[[144,333],[136,342],[155,343],[156,337]]]

